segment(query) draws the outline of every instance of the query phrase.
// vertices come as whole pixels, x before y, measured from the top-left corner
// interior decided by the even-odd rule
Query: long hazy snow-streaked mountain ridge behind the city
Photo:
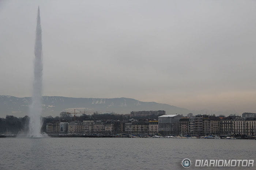
[[[43,96],[43,116],[58,116],[60,112],[99,111],[126,114],[131,111],[165,110],[166,114],[187,115],[191,111],[168,104],[142,102],[133,98],[72,98],[61,96]],[[31,97],[0,96],[0,117],[28,115]]]

